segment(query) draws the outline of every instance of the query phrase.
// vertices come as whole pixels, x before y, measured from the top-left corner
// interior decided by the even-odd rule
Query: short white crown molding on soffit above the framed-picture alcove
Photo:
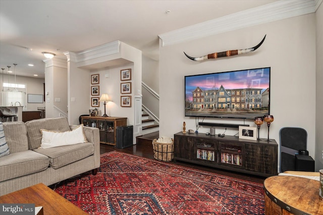
[[[94,58],[107,56],[111,54],[117,54],[120,51],[121,41],[116,40],[110,43],[105,43],[93,48],[85,49],[79,52],[64,52],[68,61],[82,62],[85,60],[91,60]]]

